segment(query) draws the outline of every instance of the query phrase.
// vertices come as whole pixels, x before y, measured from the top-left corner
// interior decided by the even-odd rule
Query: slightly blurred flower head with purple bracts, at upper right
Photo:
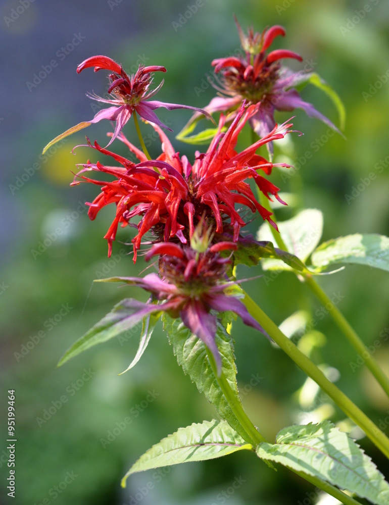
[[[220,74],[219,84],[213,85],[222,96],[213,98],[205,110],[211,114],[226,111],[233,113],[239,109],[242,100],[259,104],[257,113],[250,118],[250,125],[259,137],[264,137],[273,130],[275,110],[293,111],[297,108],[339,132],[312,104],[304,102],[294,89],[294,86],[307,81],[313,74],[305,71],[292,72],[281,65],[281,60],[285,58],[301,62],[302,57],[287,49],[268,52],[273,40],[279,35],[285,35],[285,29],[275,25],[262,33],[250,29],[248,35],[245,35],[237,21],[236,25],[244,55],[213,60],[215,73]],[[198,118],[199,114],[195,113],[186,126]],[[267,147],[269,154],[272,154],[272,143]]]

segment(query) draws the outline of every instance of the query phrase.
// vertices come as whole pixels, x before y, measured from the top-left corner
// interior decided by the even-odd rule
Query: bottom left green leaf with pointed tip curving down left
[[[127,477],[135,472],[188,461],[212,460],[241,449],[253,450],[253,446],[245,442],[225,421],[193,423],[186,428],[179,428],[146,451],[126,473],[122,486],[125,487]]]

